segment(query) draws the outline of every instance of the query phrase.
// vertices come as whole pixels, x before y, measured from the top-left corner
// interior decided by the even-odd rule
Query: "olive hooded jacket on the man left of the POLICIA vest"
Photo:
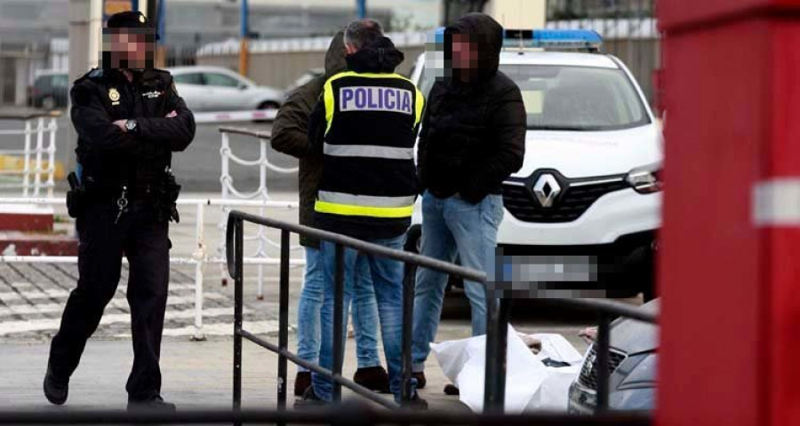
[[[333,36],[325,54],[325,75],[293,91],[272,124],[272,147],[300,159],[300,225],[314,226],[316,188],[322,177],[322,153],[312,149],[308,141],[308,117],[316,106],[328,77],[347,68],[342,33]],[[318,247],[318,241],[301,237],[300,244]]]

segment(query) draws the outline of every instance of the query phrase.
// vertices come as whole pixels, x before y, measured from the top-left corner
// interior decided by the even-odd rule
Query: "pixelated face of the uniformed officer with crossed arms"
[[[155,51],[151,28],[103,28],[103,68],[152,68]]]

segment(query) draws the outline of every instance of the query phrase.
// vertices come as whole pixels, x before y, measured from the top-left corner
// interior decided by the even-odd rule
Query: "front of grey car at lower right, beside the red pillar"
[[[641,309],[658,315],[659,304],[660,299],[654,299]],[[658,326],[636,319],[612,322],[608,398],[612,410],[652,411],[655,407],[658,331]],[[570,386],[570,413],[594,413],[596,398],[597,354],[592,344],[580,375]]]

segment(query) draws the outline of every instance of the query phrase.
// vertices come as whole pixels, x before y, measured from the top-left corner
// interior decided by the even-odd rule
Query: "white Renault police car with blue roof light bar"
[[[528,118],[524,165],[504,182],[498,235],[514,276],[652,297],[663,141],[643,91],[620,59],[592,52],[602,43],[593,31],[506,37],[500,71],[519,85]],[[427,55],[412,73],[426,95],[441,53]],[[407,247],[419,234],[412,229]]]

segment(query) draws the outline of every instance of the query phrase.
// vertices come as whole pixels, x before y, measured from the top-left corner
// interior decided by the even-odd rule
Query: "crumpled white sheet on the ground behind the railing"
[[[568,390],[580,371],[580,353],[562,335],[533,335],[542,350],[533,355],[513,327],[508,327],[506,362],[506,413],[526,410],[566,410]],[[431,343],[444,375],[460,390],[460,400],[472,411],[484,409],[486,336]],[[570,367],[546,367],[541,359],[570,363]]]

